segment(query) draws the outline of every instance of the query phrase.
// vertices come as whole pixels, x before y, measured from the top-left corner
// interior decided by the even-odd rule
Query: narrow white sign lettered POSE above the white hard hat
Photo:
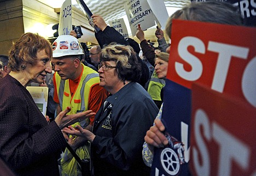
[[[72,5],[71,0],[66,0],[60,10],[59,36],[69,35],[72,30]]]

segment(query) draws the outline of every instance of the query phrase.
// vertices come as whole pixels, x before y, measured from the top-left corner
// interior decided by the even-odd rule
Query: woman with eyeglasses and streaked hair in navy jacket
[[[100,86],[110,96],[95,116],[93,131],[80,126],[63,131],[91,142],[93,175],[149,175],[142,144],[159,109],[136,83],[141,69],[136,53],[131,46],[110,44],[102,49],[100,60]]]

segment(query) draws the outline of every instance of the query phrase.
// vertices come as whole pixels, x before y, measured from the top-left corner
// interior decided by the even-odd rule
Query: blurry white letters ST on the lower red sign
[[[211,128],[212,127],[212,128]],[[200,129],[202,128],[202,133]],[[232,171],[232,162],[238,166],[247,169],[249,166],[249,147],[224,130],[216,122],[210,124],[207,114],[202,109],[197,109],[194,122],[194,136],[197,147],[192,148],[193,163],[197,175],[210,175],[210,154],[203,137],[210,142],[214,140],[219,144],[219,166],[218,175],[229,176]],[[199,160],[201,156],[201,162]]]

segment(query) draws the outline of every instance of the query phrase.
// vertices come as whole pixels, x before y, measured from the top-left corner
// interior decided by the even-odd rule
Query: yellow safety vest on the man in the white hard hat
[[[100,83],[100,78],[98,77],[98,73],[93,69],[83,66],[82,77],[79,80],[77,89],[74,92],[72,97],[70,89],[69,89],[69,80],[61,80],[59,74],[55,72],[55,80],[56,80],[56,89],[57,95],[60,102],[60,107],[64,110],[66,107],[70,106],[71,111],[68,114],[75,114],[77,110],[88,110],[88,102],[91,86]],[[83,122],[83,121],[82,121]],[[81,125],[85,127],[86,124],[79,124],[79,122],[73,124]],[[89,159],[90,158],[90,144],[85,144],[84,146],[80,146],[75,152],[80,157],[80,159]],[[62,175],[82,175],[80,170],[80,166],[77,161],[74,159],[73,155],[66,148],[61,159],[61,174]]]

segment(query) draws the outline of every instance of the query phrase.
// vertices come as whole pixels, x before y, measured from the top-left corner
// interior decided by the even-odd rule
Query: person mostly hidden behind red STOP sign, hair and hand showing
[[[223,2],[202,2],[191,3],[184,8],[177,10],[172,16],[169,17],[166,24],[166,31],[171,38],[171,27],[173,19],[213,22],[218,24],[227,25],[242,25],[242,17],[237,13],[236,8],[232,5]],[[170,49],[167,49],[167,52]],[[163,133],[165,126],[161,122],[161,116],[158,116],[154,121],[154,126],[150,127],[145,136],[145,142],[143,151],[149,151],[143,153],[143,159],[146,161],[146,165],[151,166],[154,155],[154,148],[163,148],[168,145],[168,139]],[[145,149],[148,148],[148,149]],[[182,175],[188,175],[187,171],[182,172]]]

